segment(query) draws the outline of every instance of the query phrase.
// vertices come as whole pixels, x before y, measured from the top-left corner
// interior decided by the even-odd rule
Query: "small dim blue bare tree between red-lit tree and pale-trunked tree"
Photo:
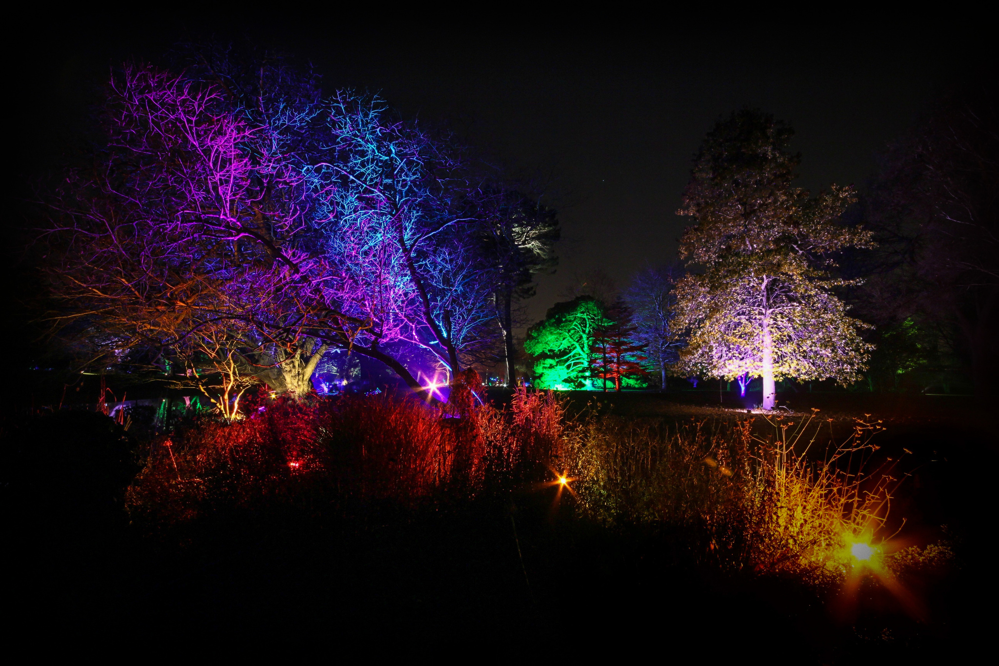
[[[659,375],[659,387],[665,390],[669,367],[679,358],[683,346],[681,331],[675,326],[676,282],[681,269],[672,266],[646,268],[631,280],[624,299],[634,313],[634,341],[641,345],[647,359],[645,367]]]

